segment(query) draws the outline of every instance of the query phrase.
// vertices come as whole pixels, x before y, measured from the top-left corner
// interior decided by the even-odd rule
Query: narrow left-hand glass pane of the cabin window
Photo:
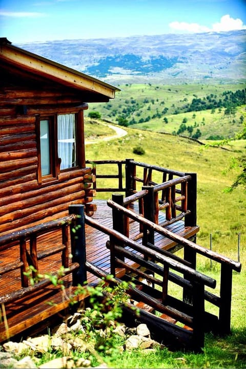
[[[40,149],[41,149],[41,173],[42,176],[50,174],[50,137],[49,120],[40,120]]]

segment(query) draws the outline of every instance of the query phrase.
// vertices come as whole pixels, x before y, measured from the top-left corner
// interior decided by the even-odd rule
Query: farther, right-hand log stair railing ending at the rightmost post
[[[213,320],[213,329],[218,329],[220,333],[228,334],[231,331],[231,299],[232,299],[232,272],[233,270],[240,272],[241,270],[241,263],[235,262],[232,259],[223,256],[221,254],[218,254],[212,250],[206,249],[202,246],[197,245],[196,243],[187,240],[186,238],[183,238],[179,236],[178,234],[172,233],[169,230],[161,227],[158,224],[155,224],[154,222],[151,222],[150,220],[143,218],[141,215],[136,214],[135,212],[131,211],[130,209],[125,208],[122,205],[119,205],[118,203],[108,200],[107,204],[116,211],[118,216],[119,214],[124,214],[128,218],[138,222],[141,224],[141,227],[143,229],[144,234],[148,234],[152,232],[157,232],[159,234],[164,235],[165,237],[169,238],[170,240],[176,242],[179,245],[182,245],[184,248],[184,258],[178,259],[181,263],[188,263],[186,265],[189,265],[193,270],[196,270],[196,255],[202,255],[204,257],[207,257],[221,265],[221,271],[220,271],[220,293],[219,296],[212,294],[211,292],[205,291],[204,297],[207,301],[215,305],[219,308],[219,314],[218,319]],[[143,237],[142,240],[143,245],[147,249],[153,250],[154,253],[162,253],[164,255],[169,255],[169,257],[177,257],[177,256],[171,256],[172,254],[168,251],[159,250],[155,244],[154,244],[154,237],[150,238]],[[116,248],[116,251],[119,252],[119,250]],[[115,251],[114,251],[115,252]],[[118,254],[119,255],[119,254]],[[118,259],[122,259],[122,255],[124,255],[124,252],[122,250],[120,251],[121,256],[117,256],[117,262]],[[148,253],[146,253],[145,257],[148,257]],[[118,263],[122,266],[122,263]],[[189,273],[184,272],[184,277],[187,280],[190,280]],[[186,300],[189,303],[193,303],[194,295],[190,293],[186,288],[183,289],[183,300]]]

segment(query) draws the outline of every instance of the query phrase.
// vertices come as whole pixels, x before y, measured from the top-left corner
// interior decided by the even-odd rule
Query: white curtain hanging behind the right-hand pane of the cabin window
[[[60,114],[57,116],[58,157],[61,159],[60,169],[76,165],[75,158],[75,115]]]

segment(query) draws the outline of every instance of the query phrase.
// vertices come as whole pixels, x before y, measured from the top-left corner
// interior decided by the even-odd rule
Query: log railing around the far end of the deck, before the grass
[[[93,188],[97,192],[125,192],[124,205],[130,207],[130,203],[138,200],[139,213],[145,214],[147,219],[156,224],[159,223],[159,212],[165,211],[165,219],[162,218],[163,226],[183,218],[185,226],[196,226],[196,173],[175,171],[133,159],[96,160],[87,163],[93,165],[92,172],[95,177]],[[110,174],[101,173],[106,167],[110,170]],[[107,181],[114,179],[116,186],[98,187],[98,181],[102,179]]]

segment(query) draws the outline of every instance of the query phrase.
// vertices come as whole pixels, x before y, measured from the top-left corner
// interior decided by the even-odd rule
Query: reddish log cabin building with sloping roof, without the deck
[[[68,204],[90,211],[84,110],[119,89],[0,43],[0,232],[59,218]]]

